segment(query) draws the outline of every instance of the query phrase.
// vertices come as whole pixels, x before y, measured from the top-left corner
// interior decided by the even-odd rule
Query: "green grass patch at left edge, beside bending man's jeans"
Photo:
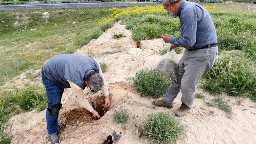
[[[23,111],[37,109],[42,111],[47,108],[47,96],[44,88],[30,84],[16,89],[14,92],[1,90],[0,96],[0,143],[10,144],[12,133],[4,131],[6,122],[13,115]],[[24,122],[25,119],[21,119]]]

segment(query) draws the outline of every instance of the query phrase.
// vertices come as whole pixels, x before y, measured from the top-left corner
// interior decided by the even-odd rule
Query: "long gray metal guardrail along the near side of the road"
[[[125,6],[147,6],[162,5],[155,2],[101,2],[101,3],[54,3],[54,4],[19,4],[0,5],[0,11],[7,10],[35,10],[35,9],[66,9],[81,7],[125,7]]]

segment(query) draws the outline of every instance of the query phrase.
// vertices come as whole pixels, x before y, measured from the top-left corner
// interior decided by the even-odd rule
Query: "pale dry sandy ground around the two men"
[[[139,138],[139,131],[135,124],[141,124],[148,114],[158,111],[174,113],[180,106],[181,94],[175,99],[174,108],[162,107],[153,108],[153,98],[140,97],[132,88],[127,78],[132,77],[142,68],[152,67],[160,58],[159,49],[163,47],[162,39],[137,42],[131,38],[131,31],[125,30],[124,25],[117,22],[114,27],[108,29],[97,39],[77,50],[75,54],[87,55],[89,49],[95,54],[98,62],[106,62],[108,70],[104,76],[108,82],[111,95],[111,107],[108,112],[99,120],[93,120],[90,113],[83,109],[73,98],[70,89],[64,91],[62,97],[63,108],[60,110],[59,123],[61,132],[60,144],[98,144],[103,142],[113,131],[122,131],[118,144],[144,144],[150,143],[145,138]],[[113,32],[122,32],[121,39],[113,39]],[[139,48],[138,48],[139,47]],[[182,54],[179,54],[179,58]],[[34,71],[38,74],[40,70]],[[39,73],[40,74],[40,73]],[[39,86],[42,85],[41,77],[34,81],[26,79],[25,75],[16,78],[15,84],[7,82],[2,88],[30,82]],[[207,99],[214,98],[207,92],[200,89]],[[92,94],[88,89],[84,94],[89,101],[99,101],[102,93]],[[99,96],[99,97],[97,97]],[[96,99],[98,98],[98,99]],[[224,111],[205,105],[203,100],[195,99],[192,110],[184,117],[181,123],[187,125],[185,135],[181,136],[178,144],[255,144],[256,143],[256,106],[249,98],[243,98],[244,102],[238,104],[237,98],[224,96],[230,99],[229,104],[233,108],[232,118],[227,118]],[[161,98],[160,98],[161,99]],[[101,100],[101,99],[100,99]],[[102,101],[103,102],[103,101]],[[202,110],[200,107],[206,108]],[[118,109],[128,109],[135,118],[131,118],[126,124],[113,123],[112,114]],[[213,114],[209,114],[213,110]],[[138,115],[138,117],[136,117]],[[131,116],[132,117],[132,116]],[[176,117],[178,119],[178,117]],[[48,144],[45,110],[37,112],[33,110],[28,113],[21,113],[10,120],[13,139],[12,144]]]

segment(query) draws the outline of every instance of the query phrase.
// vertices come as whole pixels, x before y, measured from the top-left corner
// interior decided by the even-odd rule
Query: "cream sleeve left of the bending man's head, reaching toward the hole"
[[[83,94],[83,90],[77,86],[75,83],[67,80],[68,83],[70,84],[71,91],[73,95],[75,96],[75,100],[80,103],[82,107],[84,107],[86,110],[92,112],[93,107],[90,105],[89,101],[85,98]]]

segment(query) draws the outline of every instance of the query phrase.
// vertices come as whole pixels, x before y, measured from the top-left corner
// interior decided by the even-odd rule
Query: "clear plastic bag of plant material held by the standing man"
[[[167,43],[167,52],[163,57],[154,65],[154,69],[159,71],[166,77],[177,81],[178,76],[178,56],[177,53],[172,49],[170,51],[172,44]]]

